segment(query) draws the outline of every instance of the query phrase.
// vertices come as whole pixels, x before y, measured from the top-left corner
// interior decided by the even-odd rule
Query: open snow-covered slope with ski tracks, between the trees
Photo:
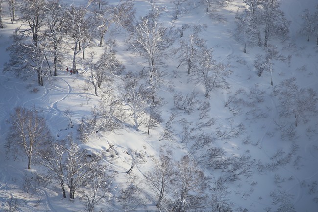
[[[116,0],[109,0],[116,2]],[[63,0],[69,4],[81,4],[82,0]],[[134,0],[136,18],[144,16],[150,8],[149,1]],[[169,0],[154,0],[155,4],[166,6],[166,12],[160,17],[165,25],[171,26],[172,3]],[[310,112],[307,122],[300,121],[295,126],[294,116],[282,118],[280,100],[275,95],[277,86],[286,79],[295,77],[298,88],[312,88],[318,92],[318,46],[313,37],[309,42],[306,36],[299,35],[302,20],[300,14],[305,8],[314,11],[316,0],[281,0],[281,9],[285,17],[291,21],[289,39],[284,43],[272,39],[270,44],[277,45],[280,54],[291,55],[290,62],[275,61],[273,67],[273,86],[270,84],[270,75],[263,73],[257,76],[253,61],[256,55],[263,54],[263,47],[248,47],[247,53],[243,53],[243,45],[235,41],[233,30],[235,29],[235,14],[237,8],[242,6],[240,0],[233,0],[217,11],[206,13],[205,5],[197,3],[196,7],[182,14],[173,24],[181,28],[182,24],[206,24],[206,28],[199,36],[206,40],[208,47],[214,48],[214,59],[218,62],[230,64],[231,74],[226,78],[229,89],[219,89],[211,92],[209,99],[204,96],[204,87],[188,81],[186,68],[179,65],[176,56],[170,53],[165,59],[160,70],[168,74],[164,78],[165,83],[159,91],[164,99],[162,105],[163,123],[150,130],[140,126],[139,131],[134,129],[133,120],[128,120],[126,128],[116,132],[97,132],[93,134],[87,143],[78,142],[81,147],[92,152],[105,151],[110,145],[116,150],[117,155],[110,160],[111,166],[118,172],[115,178],[113,195],[118,195],[120,185],[125,185],[130,175],[126,171],[130,167],[130,157],[126,154],[128,149],[142,150],[146,154],[146,163],[137,165],[131,175],[140,179],[140,186],[144,189],[148,199],[146,208],[137,208],[136,211],[156,211],[156,201],[151,199],[153,195],[143,181],[143,175],[153,165],[152,158],[158,158],[160,153],[170,152],[174,160],[186,155],[190,151],[192,141],[181,142],[182,128],[184,126],[196,127],[213,118],[214,124],[198,129],[198,133],[219,135],[216,136],[214,146],[223,148],[228,156],[250,155],[250,175],[240,176],[239,180],[227,183],[228,201],[232,203],[234,212],[246,208],[249,212],[266,212],[271,208],[275,212],[280,203],[273,204],[275,194],[283,192],[287,194],[284,201],[290,201],[296,212],[318,212],[318,116],[316,112]],[[5,4],[6,5],[6,4]],[[33,165],[32,170],[27,170],[27,158],[24,156],[13,160],[10,154],[6,154],[4,147],[7,132],[10,125],[7,123],[9,115],[17,106],[26,108],[41,108],[47,120],[49,129],[55,139],[66,138],[69,134],[77,135],[78,125],[82,117],[90,117],[91,109],[98,105],[100,97],[94,95],[93,87],[88,91],[83,90],[89,80],[89,70],[80,56],[78,57],[78,75],[70,76],[63,70],[58,70],[57,77],[44,77],[44,86],[38,86],[36,76],[23,81],[13,73],[3,73],[4,63],[9,60],[9,52],[5,49],[11,44],[10,35],[19,24],[11,24],[8,17],[7,7],[4,7],[3,22],[5,28],[0,29],[0,211],[4,211],[8,199],[13,196],[19,202],[21,212],[73,212],[85,211],[78,196],[70,200],[67,196],[63,199],[59,188],[48,185],[46,188],[37,185],[36,191],[25,192],[26,179],[35,177],[38,169]],[[217,17],[217,18],[216,18]],[[190,31],[185,29],[185,38]],[[118,35],[118,44],[115,47],[118,59],[123,62],[126,71],[141,71],[147,66],[147,61],[139,54],[127,50],[127,43],[123,40],[125,33]],[[182,38],[181,38],[182,39]],[[96,46],[97,41],[86,51],[102,52],[102,48]],[[178,47],[179,40],[174,43]],[[65,66],[72,65],[72,52],[69,51],[69,61],[64,61]],[[86,55],[89,55],[87,53]],[[116,83],[116,81],[114,81]],[[238,90],[243,92],[235,94]],[[36,92],[35,92],[36,91]],[[173,95],[176,92],[190,94],[197,92],[196,98],[200,102],[208,101],[211,110],[204,118],[199,119],[198,110],[187,114],[185,111],[174,107]],[[299,94],[301,95],[301,94]],[[91,98],[89,102],[87,99]],[[229,99],[234,99],[227,107]],[[241,101],[239,100],[241,99]],[[242,103],[245,102],[245,103]],[[247,104],[249,102],[250,104]],[[201,103],[199,103],[201,104]],[[197,105],[198,107],[199,105]],[[71,108],[74,112],[74,128],[68,128],[69,122],[63,116],[63,111]],[[317,107],[316,107],[317,109]],[[159,141],[160,133],[170,115],[174,113],[172,127],[174,128],[173,139]],[[283,126],[284,125],[284,126]],[[288,127],[293,131],[291,136]],[[242,130],[242,132],[240,131]],[[237,131],[237,135],[234,135]],[[192,154],[200,161],[200,151]],[[260,171],[259,165],[274,164],[273,170]],[[220,170],[205,169],[204,173],[217,178],[222,175]],[[139,182],[139,181],[138,181]],[[24,189],[23,189],[24,188]],[[117,193],[117,194],[116,194]],[[272,195],[271,195],[272,194]],[[68,192],[67,192],[68,195]],[[119,205],[105,206],[105,211],[123,211]],[[103,205],[98,205],[102,208]],[[241,209],[240,209],[241,208]],[[287,212],[287,211],[286,211]]]

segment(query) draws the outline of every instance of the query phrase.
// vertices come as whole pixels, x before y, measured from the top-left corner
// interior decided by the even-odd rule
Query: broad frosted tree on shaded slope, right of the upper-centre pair
[[[208,98],[212,90],[228,87],[225,79],[228,71],[223,63],[213,59],[212,48],[202,47],[199,54],[198,68],[191,73],[190,79],[204,85],[205,97]]]

